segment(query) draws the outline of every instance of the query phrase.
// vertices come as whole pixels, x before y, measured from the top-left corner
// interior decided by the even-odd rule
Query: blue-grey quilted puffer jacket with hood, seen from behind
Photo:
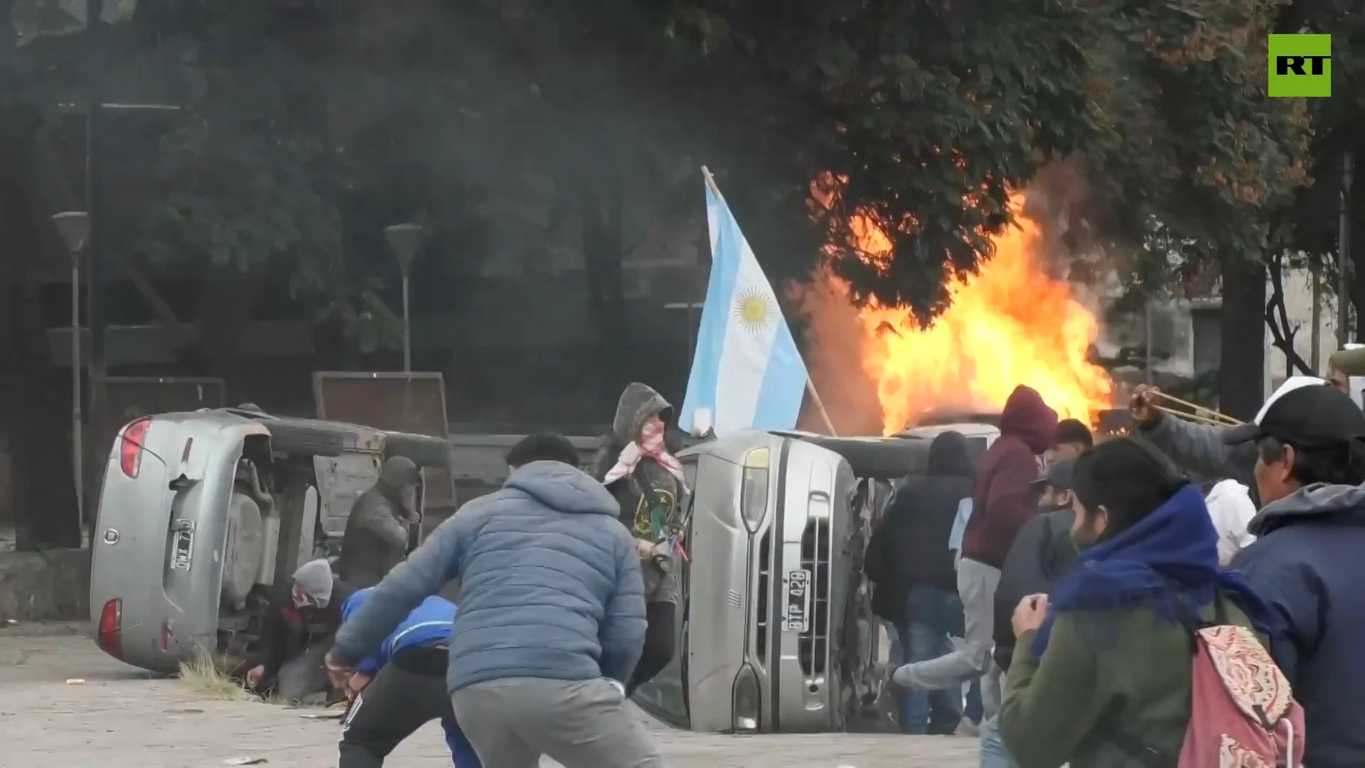
[[[569,465],[517,469],[379,582],[337,633],[333,656],[360,661],[459,578],[450,691],[504,678],[628,679],[644,648],[644,596],[617,511],[602,484]]]

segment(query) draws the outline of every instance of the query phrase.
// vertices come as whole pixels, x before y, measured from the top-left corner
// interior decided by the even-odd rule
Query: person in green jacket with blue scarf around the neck
[[[1081,555],[1051,597],[1020,601],[1001,735],[1018,768],[1175,768],[1190,720],[1194,616],[1254,629],[1268,611],[1218,563],[1196,485],[1121,437],[1072,477]]]

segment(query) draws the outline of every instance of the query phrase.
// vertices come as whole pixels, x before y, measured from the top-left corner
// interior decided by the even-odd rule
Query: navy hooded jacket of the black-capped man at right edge
[[[1309,485],[1265,504],[1233,567],[1269,604],[1271,653],[1304,705],[1304,765],[1365,765],[1365,486]]]

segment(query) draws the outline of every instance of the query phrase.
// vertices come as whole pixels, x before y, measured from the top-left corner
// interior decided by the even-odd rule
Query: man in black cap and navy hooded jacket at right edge
[[[1275,618],[1271,652],[1304,705],[1304,764],[1365,765],[1365,413],[1295,376],[1223,440],[1256,447],[1257,538],[1233,567]]]

